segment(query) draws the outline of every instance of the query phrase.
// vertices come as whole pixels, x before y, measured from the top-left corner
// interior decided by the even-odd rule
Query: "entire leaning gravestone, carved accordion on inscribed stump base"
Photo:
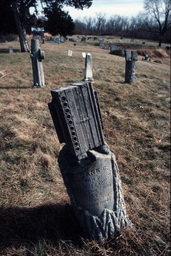
[[[104,142],[103,119],[91,82],[51,91],[48,104],[59,142],[68,195],[88,237],[110,237],[130,222],[115,155]]]

